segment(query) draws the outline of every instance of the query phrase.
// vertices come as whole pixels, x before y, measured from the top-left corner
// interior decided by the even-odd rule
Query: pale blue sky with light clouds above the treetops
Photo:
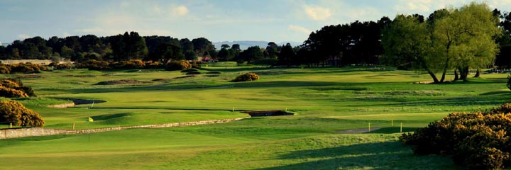
[[[476,0],[478,1],[478,0]],[[323,26],[458,8],[465,0],[0,0],[0,42],[40,36],[141,35],[212,42],[303,42]],[[482,1],[478,1],[482,2]],[[486,0],[511,11],[511,0]]]

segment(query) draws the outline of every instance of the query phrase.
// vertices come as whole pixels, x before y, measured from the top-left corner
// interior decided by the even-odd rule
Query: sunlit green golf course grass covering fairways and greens
[[[285,110],[292,116],[260,117],[214,125],[131,129],[87,135],[24,137],[0,141],[7,169],[457,169],[442,156],[413,155],[397,142],[399,126],[412,131],[445,115],[479,111],[511,101],[506,74],[451,84],[421,72],[346,68],[265,68],[211,64],[199,72],[163,70],[43,72],[25,77],[38,98],[14,99],[45,118],[47,128],[148,125],[242,118],[237,111]],[[234,83],[245,72],[258,81]],[[20,77],[22,74],[2,75]],[[449,76],[447,77],[449,79]],[[94,85],[130,79],[148,84]],[[157,79],[158,81],[153,81]],[[103,100],[75,108],[46,106]],[[87,109],[89,108],[89,109]],[[235,112],[232,112],[232,109]],[[367,134],[339,131],[381,128]],[[391,127],[391,124],[393,126]],[[31,164],[23,164],[24,159]]]

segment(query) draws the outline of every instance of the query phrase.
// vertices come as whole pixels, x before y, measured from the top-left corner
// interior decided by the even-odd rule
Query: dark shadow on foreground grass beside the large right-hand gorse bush
[[[300,163],[263,168],[272,169],[461,169],[449,157],[417,156],[400,142],[376,142],[282,154],[275,159]],[[312,161],[311,161],[312,160]]]

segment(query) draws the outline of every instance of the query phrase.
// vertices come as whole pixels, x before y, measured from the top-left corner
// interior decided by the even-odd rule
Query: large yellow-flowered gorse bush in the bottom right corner
[[[451,113],[429,123],[401,142],[414,145],[415,154],[451,154],[468,169],[500,169],[511,165],[511,105],[490,111]]]

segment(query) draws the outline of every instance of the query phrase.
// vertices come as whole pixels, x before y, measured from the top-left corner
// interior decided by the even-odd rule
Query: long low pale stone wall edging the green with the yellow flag
[[[249,118],[249,117],[248,117]],[[31,136],[48,136],[48,135],[70,135],[70,134],[82,134],[87,132],[106,132],[112,130],[124,130],[131,128],[170,128],[177,126],[186,126],[186,125],[205,125],[212,123],[226,123],[235,120],[241,120],[245,118],[233,118],[233,119],[220,119],[220,120],[202,120],[196,122],[187,122],[187,123],[167,123],[167,124],[159,124],[159,125],[134,125],[134,126],[123,126],[116,128],[99,128],[99,129],[91,129],[91,130],[59,130],[59,129],[49,129],[49,128],[17,128],[17,129],[3,129],[0,130],[0,139],[8,139],[15,137],[31,137]]]

